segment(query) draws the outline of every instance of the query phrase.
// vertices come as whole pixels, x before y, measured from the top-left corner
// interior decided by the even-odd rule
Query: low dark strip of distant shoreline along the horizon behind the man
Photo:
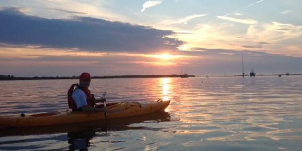
[[[107,79],[107,78],[165,78],[165,77],[180,77],[180,75],[109,75],[109,76],[92,76],[92,79]],[[189,75],[195,77],[195,75]],[[42,79],[79,79],[79,76],[35,76],[35,77],[15,77],[13,75],[0,75],[0,80],[42,80]]]

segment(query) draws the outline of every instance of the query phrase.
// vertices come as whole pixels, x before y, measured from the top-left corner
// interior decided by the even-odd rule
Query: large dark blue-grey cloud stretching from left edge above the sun
[[[183,44],[171,30],[111,22],[90,17],[46,19],[28,16],[16,8],[0,10],[0,43],[78,48],[83,51],[176,50]]]

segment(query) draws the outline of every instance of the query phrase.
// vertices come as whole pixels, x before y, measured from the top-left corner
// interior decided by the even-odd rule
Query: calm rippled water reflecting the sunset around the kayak
[[[0,81],[0,115],[66,110],[77,80]],[[168,112],[0,131],[0,150],[300,150],[302,77],[93,79],[107,101],[170,99]]]

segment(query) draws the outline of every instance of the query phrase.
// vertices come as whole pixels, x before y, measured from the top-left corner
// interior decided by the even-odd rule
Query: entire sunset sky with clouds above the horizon
[[[0,75],[302,73],[300,0],[0,0]]]

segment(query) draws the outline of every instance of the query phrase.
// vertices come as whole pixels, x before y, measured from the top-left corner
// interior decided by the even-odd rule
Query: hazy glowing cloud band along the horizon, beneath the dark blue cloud
[[[186,69],[194,75],[236,75],[241,74],[241,56],[244,56],[244,69],[249,73],[251,68],[257,74],[265,73],[300,73],[301,57],[268,54],[257,51],[236,51],[232,49],[191,48],[192,51],[180,52],[186,56],[164,61],[160,58],[144,54],[105,53],[95,56],[84,54],[69,54],[60,50],[45,50],[46,48],[28,48],[22,55],[39,57],[20,58],[21,48],[0,49],[0,70],[3,74],[15,76],[34,75],[78,75],[79,66],[92,75],[134,75],[134,74],[179,74]],[[300,49],[297,49],[297,51]],[[12,58],[7,58],[1,52],[15,51]],[[47,53],[45,53],[45,51]],[[61,54],[57,54],[59,51]],[[75,52],[74,52],[75,53]],[[83,53],[83,52],[81,52]],[[3,58],[4,57],[4,58]],[[106,70],[103,70],[106,68]]]

